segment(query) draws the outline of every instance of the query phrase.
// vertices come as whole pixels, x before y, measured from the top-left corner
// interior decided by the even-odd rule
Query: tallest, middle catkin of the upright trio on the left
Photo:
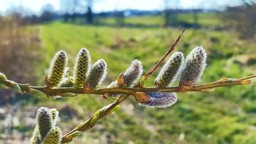
[[[82,85],[86,81],[86,74],[91,66],[91,56],[86,48],[81,48],[75,58],[74,82]]]

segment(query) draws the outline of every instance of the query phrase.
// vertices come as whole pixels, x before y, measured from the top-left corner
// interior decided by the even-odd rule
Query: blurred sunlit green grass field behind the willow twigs
[[[202,23],[212,26],[216,22]],[[42,85],[50,60],[58,50],[68,53],[72,73],[74,57],[82,47],[89,50],[92,62],[100,58],[106,60],[108,76],[103,86],[116,80],[118,74],[126,70],[134,59],[142,62],[146,74],[182,31],[173,28],[115,28],[62,22],[41,24],[39,27],[42,48],[36,52],[42,54],[43,60],[35,73]],[[187,29],[174,52],[180,51],[187,55],[192,48],[201,45],[206,49],[208,66],[199,83],[256,74],[256,42],[240,40],[238,37],[238,34],[226,31]],[[154,85],[158,71],[146,80],[146,86]],[[100,95],[86,94],[53,101],[40,97],[36,99],[32,105],[59,110],[60,122],[57,126],[62,128],[64,134],[112,102],[102,99]],[[28,134],[32,134],[32,128]],[[166,109],[140,107],[130,97],[121,104],[120,110],[102,118],[93,129],[83,132],[71,144],[253,144],[255,141],[254,84],[218,88],[210,93],[178,93],[178,102]]]

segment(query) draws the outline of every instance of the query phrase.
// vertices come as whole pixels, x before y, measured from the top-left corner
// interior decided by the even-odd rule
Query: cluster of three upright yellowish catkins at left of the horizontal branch
[[[76,87],[80,88],[86,82],[90,83],[90,87],[99,87],[107,75],[107,64],[105,60],[100,59],[91,64],[91,56],[86,48],[81,48],[75,58],[73,75],[65,77],[67,74],[68,56],[65,51],[60,50],[56,53],[51,61],[46,85],[49,88],[56,87]],[[65,94],[45,94],[49,100],[54,100]],[[74,95],[72,95],[74,96]]]

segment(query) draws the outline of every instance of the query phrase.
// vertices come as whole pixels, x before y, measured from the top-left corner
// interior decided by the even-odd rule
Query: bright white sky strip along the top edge
[[[93,12],[107,12],[112,10],[164,10],[164,0],[96,0]],[[225,6],[236,6],[242,0],[169,0],[169,8],[179,9],[221,9]],[[40,8],[50,3],[56,10],[60,10],[60,0],[0,0],[0,12],[5,12],[11,6],[23,6],[26,9],[38,12]]]

